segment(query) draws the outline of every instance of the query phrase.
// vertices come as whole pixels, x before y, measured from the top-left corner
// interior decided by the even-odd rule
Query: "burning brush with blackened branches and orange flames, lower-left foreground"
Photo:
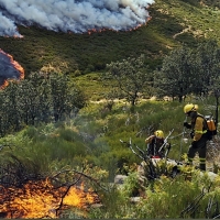
[[[19,158],[13,156],[13,160],[19,166],[19,172],[13,172],[13,166],[6,170],[10,178],[7,184],[4,183],[6,186],[0,185],[0,217],[59,218],[64,210],[72,207],[85,210],[90,205],[100,202],[97,193],[88,188],[85,190],[84,185],[87,182],[82,177],[101,187],[97,179],[84,173],[85,166],[81,172],[66,169],[52,177],[35,176],[34,179],[33,175],[26,174],[25,167]],[[74,175],[72,175],[73,173]],[[59,179],[62,174],[70,174],[69,176],[76,177],[76,179],[64,183]]]

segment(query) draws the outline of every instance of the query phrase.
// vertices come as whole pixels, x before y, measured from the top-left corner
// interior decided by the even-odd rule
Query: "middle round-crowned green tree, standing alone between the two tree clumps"
[[[144,64],[144,55],[112,62],[107,65],[107,69],[108,72],[103,75],[105,84],[111,85],[114,94],[125,98],[132,106],[151,87],[153,77]]]

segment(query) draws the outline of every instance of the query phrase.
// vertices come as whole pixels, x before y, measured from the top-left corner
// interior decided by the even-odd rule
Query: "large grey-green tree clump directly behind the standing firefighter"
[[[172,51],[155,72],[155,86],[167,96],[183,100],[188,94],[208,95],[211,79],[219,75],[220,48],[216,41],[199,44],[195,50]]]

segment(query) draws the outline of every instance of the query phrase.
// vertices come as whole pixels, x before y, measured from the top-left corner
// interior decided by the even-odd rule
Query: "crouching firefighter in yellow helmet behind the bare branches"
[[[153,158],[164,157],[165,148],[162,147],[162,145],[164,144],[164,132],[162,130],[157,130],[154,132],[154,134],[146,138],[145,143],[147,144],[146,151],[150,157]]]

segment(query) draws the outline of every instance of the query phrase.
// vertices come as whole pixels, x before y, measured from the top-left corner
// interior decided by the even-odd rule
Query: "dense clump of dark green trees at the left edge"
[[[86,105],[82,91],[67,76],[38,73],[11,81],[0,91],[0,100],[1,136],[25,125],[61,121]]]

